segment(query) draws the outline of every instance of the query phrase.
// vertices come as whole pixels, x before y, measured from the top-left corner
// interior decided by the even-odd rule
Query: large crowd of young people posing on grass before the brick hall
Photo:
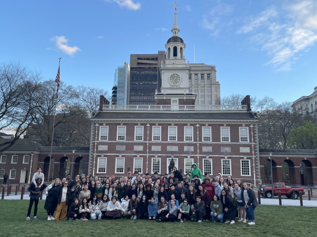
[[[39,167],[41,168],[41,167]],[[41,168],[42,170],[42,168]],[[258,205],[255,193],[248,183],[229,175],[205,177],[194,163],[191,174],[184,178],[174,166],[170,174],[128,172],[128,176],[115,178],[77,174],[71,180],[55,179],[46,186],[42,175],[34,176],[29,187],[30,204],[27,220],[33,203],[34,219],[40,192],[45,190],[44,209],[47,220],[95,220],[95,219],[148,219],[157,222],[212,221],[234,224],[255,224],[254,209]],[[226,179],[226,180],[225,180]],[[55,217],[54,217],[54,212]]]

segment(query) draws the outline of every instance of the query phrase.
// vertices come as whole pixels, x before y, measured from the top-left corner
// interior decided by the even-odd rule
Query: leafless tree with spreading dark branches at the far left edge
[[[14,134],[13,139],[0,143],[0,152],[9,149],[34,121],[34,99],[40,80],[40,73],[20,63],[0,64],[0,131]]]

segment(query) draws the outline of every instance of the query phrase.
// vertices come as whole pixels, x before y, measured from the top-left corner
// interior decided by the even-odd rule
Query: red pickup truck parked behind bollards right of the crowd
[[[273,184],[273,193],[274,196],[278,196],[278,191],[281,191],[282,196],[286,196],[288,198],[293,197],[292,191],[295,191],[295,199],[299,197],[299,192],[301,191],[302,195],[305,194],[305,190],[303,188],[292,188],[285,186],[284,183],[275,183]],[[260,187],[259,188],[260,194],[263,196],[265,195],[266,198],[272,198],[272,187]]]

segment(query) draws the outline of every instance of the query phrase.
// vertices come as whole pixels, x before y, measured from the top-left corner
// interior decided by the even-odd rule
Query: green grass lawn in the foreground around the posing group
[[[44,201],[38,205],[37,220],[27,221],[28,200],[1,200],[1,236],[105,236],[105,237],[248,237],[316,236],[316,208],[261,206],[255,210],[256,225],[212,222],[157,223],[147,220],[47,221]],[[315,221],[314,221],[315,220]]]

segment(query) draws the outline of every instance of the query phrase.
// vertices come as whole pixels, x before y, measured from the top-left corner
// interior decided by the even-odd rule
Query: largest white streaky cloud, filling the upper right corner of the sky
[[[291,65],[317,41],[315,1],[291,3],[280,10],[271,6],[247,21],[236,33],[249,34],[250,42],[271,58],[265,65],[277,71],[291,70]]]

